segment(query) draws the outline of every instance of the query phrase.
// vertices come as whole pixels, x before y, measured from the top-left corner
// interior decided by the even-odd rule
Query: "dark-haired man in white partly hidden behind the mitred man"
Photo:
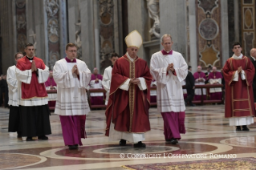
[[[105,91],[107,91],[105,105],[108,105],[110,84],[111,84],[111,78],[112,78],[112,69],[118,58],[119,58],[119,55],[117,55],[116,53],[113,53],[111,56],[112,66],[107,67],[104,71],[102,86],[104,87]]]

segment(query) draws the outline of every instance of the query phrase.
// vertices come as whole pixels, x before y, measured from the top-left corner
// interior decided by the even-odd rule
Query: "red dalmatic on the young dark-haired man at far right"
[[[238,81],[233,81],[238,67],[245,71],[246,79],[242,80],[239,73]],[[242,59],[228,59],[223,67],[223,75],[226,82],[225,117],[254,116],[254,65],[250,59],[246,56]]]

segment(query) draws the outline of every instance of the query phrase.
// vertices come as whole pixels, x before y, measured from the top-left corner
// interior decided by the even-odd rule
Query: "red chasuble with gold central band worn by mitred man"
[[[140,91],[138,85],[130,84],[128,91],[120,89],[127,79],[143,77],[147,90]],[[147,62],[136,57],[131,62],[126,55],[118,59],[112,70],[110,95],[106,110],[107,128],[115,124],[118,132],[144,133],[150,131],[148,109],[150,107],[150,75]]]

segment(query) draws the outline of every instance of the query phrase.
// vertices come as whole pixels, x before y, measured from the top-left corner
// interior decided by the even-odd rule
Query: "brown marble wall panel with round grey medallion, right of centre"
[[[221,63],[221,6],[219,0],[197,0],[198,65],[206,69]]]

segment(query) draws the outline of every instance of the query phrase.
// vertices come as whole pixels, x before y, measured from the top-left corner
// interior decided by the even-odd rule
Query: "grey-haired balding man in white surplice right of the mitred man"
[[[180,133],[185,133],[185,103],[182,82],[188,74],[188,65],[181,53],[172,50],[170,34],[161,38],[164,47],[152,55],[150,71],[157,82],[157,111],[164,119],[165,140],[177,144]]]

